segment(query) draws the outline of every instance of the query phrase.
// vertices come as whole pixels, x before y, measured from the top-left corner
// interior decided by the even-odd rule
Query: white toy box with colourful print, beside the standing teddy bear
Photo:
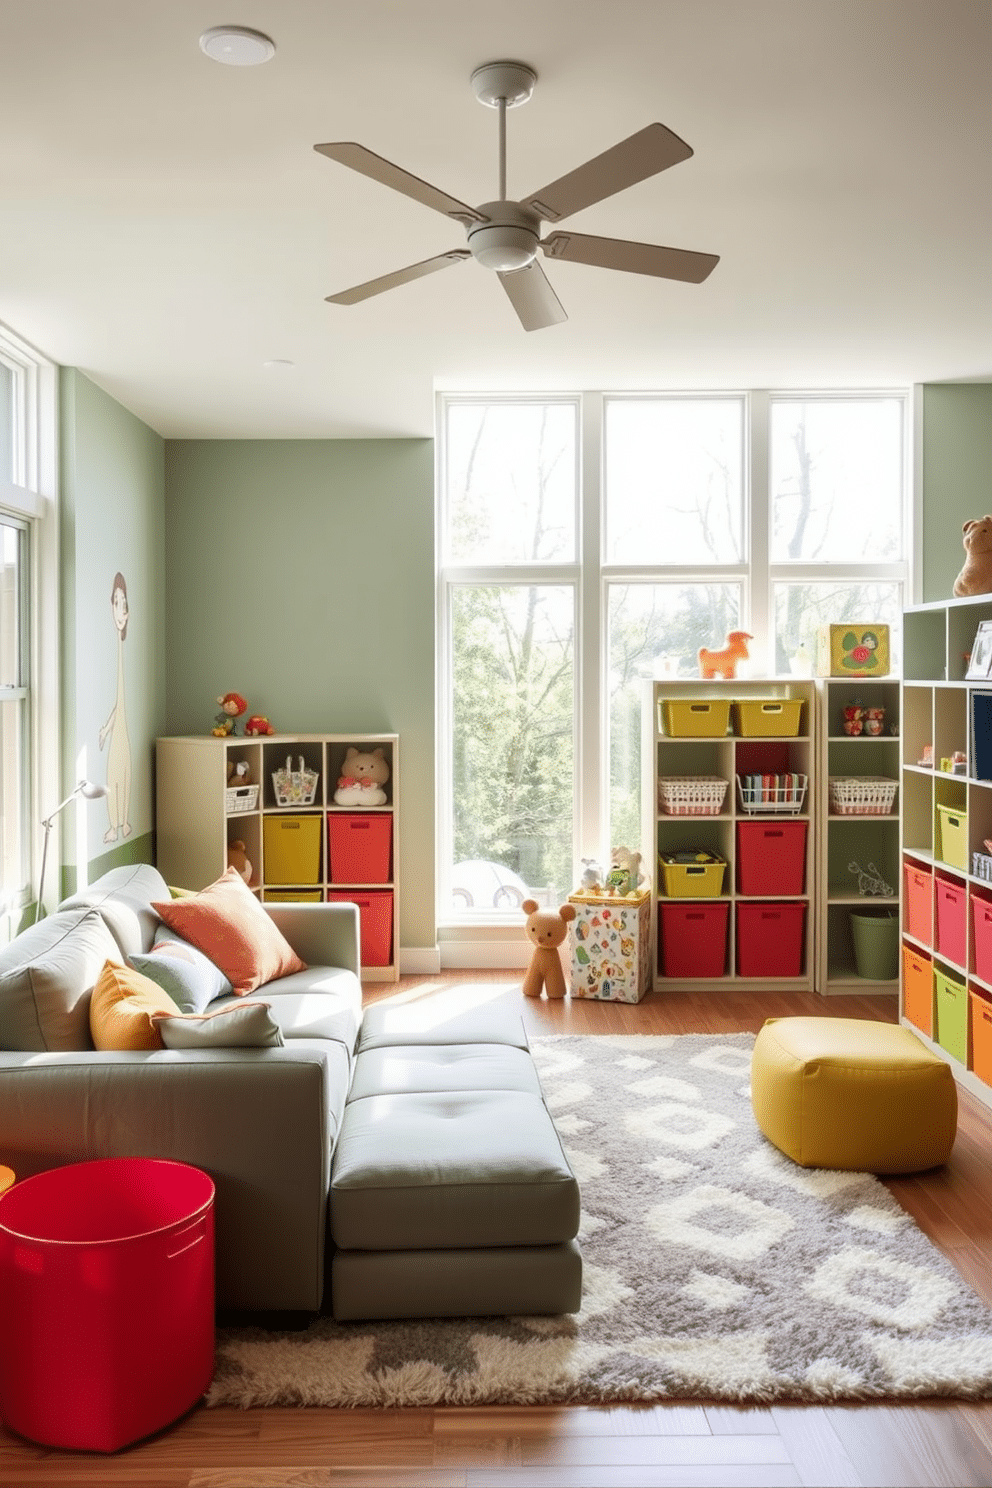
[[[640,1003],[650,981],[651,896],[568,896],[571,995],[607,1003]]]

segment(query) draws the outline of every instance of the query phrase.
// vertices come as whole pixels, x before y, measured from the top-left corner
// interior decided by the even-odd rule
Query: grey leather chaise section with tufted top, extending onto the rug
[[[521,1018],[379,1009],[335,1147],[335,1318],[577,1311],[579,1184]]]

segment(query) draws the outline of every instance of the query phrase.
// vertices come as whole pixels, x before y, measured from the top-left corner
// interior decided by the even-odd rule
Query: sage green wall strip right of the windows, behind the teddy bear
[[[992,382],[922,387],[922,600],[946,600],[964,562],[961,527],[992,512]]]

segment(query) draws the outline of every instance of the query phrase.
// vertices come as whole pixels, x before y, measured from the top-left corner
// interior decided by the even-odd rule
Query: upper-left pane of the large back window
[[[571,562],[576,403],[454,403],[448,409],[446,562]]]

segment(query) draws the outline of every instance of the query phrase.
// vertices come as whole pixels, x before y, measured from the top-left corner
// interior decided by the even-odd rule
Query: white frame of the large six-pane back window
[[[446,567],[446,472],[445,420],[452,403],[500,402],[561,402],[574,399],[579,405],[579,533],[574,564],[494,565],[485,568]],[[604,562],[605,482],[604,426],[607,400],[693,400],[742,399],[744,402],[744,542],[742,559],[736,564],[683,567],[678,564],[607,564]],[[903,405],[903,558],[889,564],[772,564],[770,561],[770,488],[769,436],[772,402],[872,400],[897,399]],[[610,738],[608,738],[608,677],[607,625],[608,591],[617,583],[706,583],[736,582],[741,585],[742,623],[759,643],[751,647],[753,676],[769,673],[769,647],[773,647],[773,588],[784,582],[815,583],[836,579],[839,568],[852,582],[894,582],[903,586],[903,607],[913,603],[918,570],[913,497],[913,397],[910,388],[842,388],[761,390],[726,388],[706,391],[632,391],[632,393],[439,393],[436,405],[436,573],[437,573],[437,708],[436,708],[436,802],[437,802],[437,862],[436,903],[437,936],[442,966],[519,966],[526,961],[529,943],[522,937],[521,923],[507,924],[506,915],[457,920],[446,911],[448,863],[452,851],[452,821],[448,793],[452,771],[451,754],[451,585],[460,582],[570,582],[577,592],[576,623],[576,821],[574,860],[602,853],[607,842],[610,809]],[[773,649],[770,650],[773,659]]]

